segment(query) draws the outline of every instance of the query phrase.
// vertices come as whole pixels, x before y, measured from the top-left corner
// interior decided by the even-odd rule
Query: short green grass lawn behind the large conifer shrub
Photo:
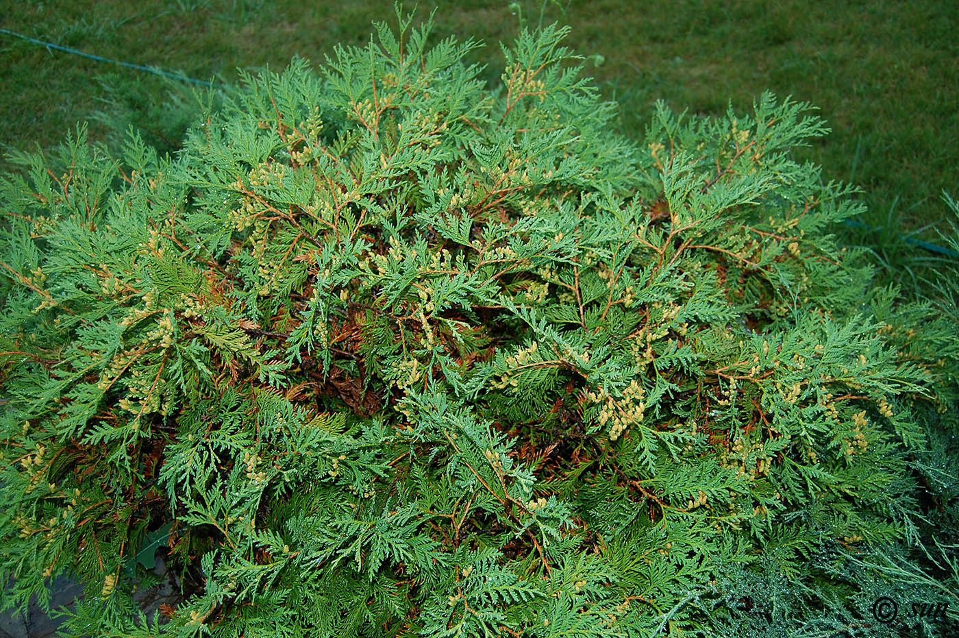
[[[409,3],[411,5],[411,3]],[[474,37],[474,55],[493,68],[498,42],[535,24],[538,3],[420,2],[436,8],[434,36]],[[531,14],[531,17],[530,17]],[[395,22],[392,5],[371,0],[75,0],[21,2],[0,26],[108,58],[178,70],[194,78],[236,78],[236,67],[284,66],[293,55],[322,62],[337,43],[361,44],[372,20]],[[658,99],[714,114],[750,106],[764,89],[811,102],[832,128],[804,156],[824,176],[853,180],[877,232],[851,234],[877,251],[893,278],[935,265],[901,242],[934,238],[947,217],[943,190],[959,195],[959,12],[951,0],[692,2],[571,1],[545,19],[573,27],[569,44],[604,94],[620,103],[627,132],[642,133]],[[27,150],[54,145],[77,121],[122,105],[154,141],[175,144],[185,122],[161,96],[169,83],[131,69],[48,51],[0,35],[0,142]],[[498,79],[491,72],[489,81]],[[108,88],[112,86],[112,89]],[[105,101],[109,101],[107,104]],[[105,126],[91,127],[103,138]],[[925,230],[924,230],[925,228]]]

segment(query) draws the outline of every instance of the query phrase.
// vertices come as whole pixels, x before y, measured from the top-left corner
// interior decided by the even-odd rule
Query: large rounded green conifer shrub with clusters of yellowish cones
[[[822,120],[631,141],[566,33],[491,88],[401,18],[174,157],[12,158],[5,607],[66,574],[78,636],[874,635],[954,599],[955,318],[837,247]]]

